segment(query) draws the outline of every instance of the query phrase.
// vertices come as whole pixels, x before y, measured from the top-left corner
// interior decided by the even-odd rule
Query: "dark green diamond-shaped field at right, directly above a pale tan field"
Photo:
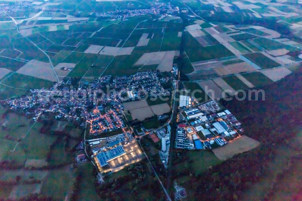
[[[243,56],[263,69],[270,69],[280,65],[279,63],[271,60],[262,53],[250,53]]]

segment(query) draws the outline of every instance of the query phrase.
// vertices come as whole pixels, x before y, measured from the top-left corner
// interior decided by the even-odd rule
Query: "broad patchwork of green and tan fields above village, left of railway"
[[[149,7],[135,1],[127,5],[122,2],[97,4],[104,4],[106,8],[120,4],[121,8],[130,10],[136,6]],[[59,9],[67,10],[73,7],[61,2],[60,6]],[[80,3],[74,8],[86,6]],[[100,9],[100,6],[93,4],[94,8]],[[3,68],[0,76],[8,76],[0,80],[2,99],[25,94],[31,88],[49,88],[66,76],[93,79],[101,75],[132,75],[149,69],[170,71],[177,55],[175,50],[180,49],[182,21],[177,18],[151,21],[147,20],[150,15],[142,15],[121,22],[92,21],[56,12],[39,14],[40,18],[20,21],[21,34],[12,29],[13,34],[0,37]],[[33,27],[33,24],[39,24],[39,27]],[[141,53],[159,51],[164,54],[155,63],[157,66],[147,61],[134,65]],[[8,90],[10,87],[11,91]]]

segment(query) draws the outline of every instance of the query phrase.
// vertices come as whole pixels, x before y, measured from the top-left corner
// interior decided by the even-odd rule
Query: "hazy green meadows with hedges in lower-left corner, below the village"
[[[30,168],[41,168],[49,164],[57,165],[64,162],[67,162],[66,164],[72,163],[72,154],[63,151],[62,141],[61,144],[57,142],[53,148],[50,148],[58,136],[41,133],[43,123],[34,122],[31,118],[16,113],[2,115],[0,124],[2,130],[0,141],[4,145],[1,146],[0,160],[13,160],[19,165],[19,168],[15,170],[2,171],[0,179],[11,182],[16,180],[16,176],[20,176],[16,185],[0,187],[1,197],[19,199],[30,193],[41,193],[42,195],[55,196],[56,199],[64,199],[74,177],[70,165],[60,169],[54,168],[50,171],[31,170]],[[37,138],[37,136],[39,137]],[[47,159],[50,151],[51,157]],[[65,155],[62,155],[64,153]],[[53,156],[56,157],[56,163],[53,163]],[[28,183],[32,180],[39,182]],[[53,194],[55,189],[57,189],[56,194]]]

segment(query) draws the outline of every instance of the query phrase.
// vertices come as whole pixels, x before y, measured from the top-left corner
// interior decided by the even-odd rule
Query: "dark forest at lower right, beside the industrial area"
[[[193,173],[185,185],[189,200],[237,200],[247,187],[265,174],[267,164],[274,158],[275,147],[288,142],[302,129],[301,86],[302,69],[299,69],[262,88],[265,101],[223,103],[243,123],[245,134],[262,143],[201,175]]]

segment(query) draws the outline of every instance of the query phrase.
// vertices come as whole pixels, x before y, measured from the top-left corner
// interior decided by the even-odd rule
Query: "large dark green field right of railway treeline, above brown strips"
[[[191,62],[233,56],[233,53],[230,50],[226,49],[226,47],[222,44],[211,45],[197,49],[188,49],[186,50],[186,53]]]

